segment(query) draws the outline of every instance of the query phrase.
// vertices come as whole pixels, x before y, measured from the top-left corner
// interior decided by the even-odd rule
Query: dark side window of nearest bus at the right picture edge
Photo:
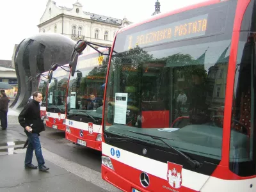
[[[230,170],[246,177],[256,173],[255,37],[246,32],[240,36],[232,106]]]

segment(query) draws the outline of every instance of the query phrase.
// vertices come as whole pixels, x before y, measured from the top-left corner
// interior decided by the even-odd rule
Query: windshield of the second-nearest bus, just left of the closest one
[[[108,61],[99,64],[99,53],[81,56],[74,76],[70,76],[67,97],[67,118],[88,116],[83,122],[102,122],[103,95]]]

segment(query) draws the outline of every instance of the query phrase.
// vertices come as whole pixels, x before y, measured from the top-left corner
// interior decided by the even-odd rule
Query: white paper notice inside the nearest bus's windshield
[[[114,122],[116,124],[126,124],[127,97],[128,93],[116,93],[115,95]]]

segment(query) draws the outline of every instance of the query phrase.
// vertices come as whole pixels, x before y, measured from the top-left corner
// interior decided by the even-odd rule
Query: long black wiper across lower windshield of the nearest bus
[[[128,130],[127,130],[128,131]],[[168,147],[172,148],[172,150],[175,150],[175,152],[177,152],[177,154],[179,154],[180,157],[183,157],[184,159],[186,159],[186,161],[188,162],[188,164],[190,164],[193,168],[199,168],[200,163],[194,159],[190,159],[186,154],[184,154],[183,152],[181,152],[180,150],[177,150],[176,148],[172,147],[172,145],[169,145],[168,143],[166,143],[166,141],[164,140],[170,140],[168,138],[161,138],[158,136],[152,136],[150,134],[145,134],[145,133],[141,133],[141,132],[136,132],[136,131],[128,131],[128,132],[132,132],[135,134],[140,134],[140,135],[144,135],[144,136],[149,136],[150,138],[154,139],[154,140],[159,140],[162,141],[164,144],[166,144]]]

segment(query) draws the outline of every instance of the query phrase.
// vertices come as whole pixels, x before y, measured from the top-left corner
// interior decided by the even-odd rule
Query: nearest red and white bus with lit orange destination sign
[[[117,31],[102,179],[132,192],[256,191],[255,6],[210,0]]]

